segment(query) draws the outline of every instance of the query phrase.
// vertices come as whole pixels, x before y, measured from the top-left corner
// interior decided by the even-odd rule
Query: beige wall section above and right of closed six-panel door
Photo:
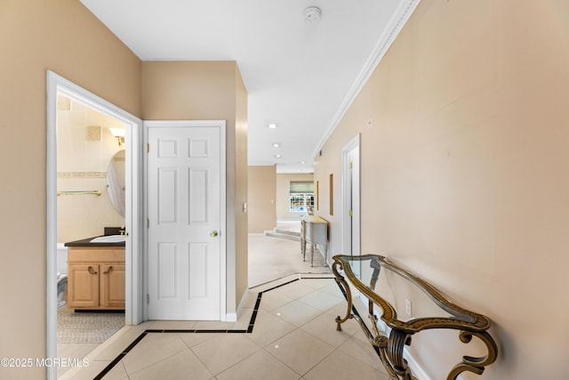
[[[235,61],[142,62],[143,119],[227,122],[227,266],[236,268],[227,276],[228,312],[247,283],[246,96]]]

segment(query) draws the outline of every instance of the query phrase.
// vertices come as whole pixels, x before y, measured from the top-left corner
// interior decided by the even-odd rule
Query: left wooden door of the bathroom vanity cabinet
[[[71,307],[99,307],[99,265],[68,266],[68,304]]]

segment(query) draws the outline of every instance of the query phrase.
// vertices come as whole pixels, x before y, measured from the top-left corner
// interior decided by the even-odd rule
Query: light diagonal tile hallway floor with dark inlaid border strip
[[[260,292],[252,332],[148,332],[102,378],[389,379],[354,319],[336,331],[334,319],[345,315],[346,301],[330,274],[291,275],[252,287],[235,323],[148,321],[124,327],[87,357],[89,367],[70,369],[61,378],[96,378],[147,330],[246,330]]]

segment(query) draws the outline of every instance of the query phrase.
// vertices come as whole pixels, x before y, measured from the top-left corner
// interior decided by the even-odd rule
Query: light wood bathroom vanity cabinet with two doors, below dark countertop
[[[69,247],[68,306],[124,310],[124,247]]]

